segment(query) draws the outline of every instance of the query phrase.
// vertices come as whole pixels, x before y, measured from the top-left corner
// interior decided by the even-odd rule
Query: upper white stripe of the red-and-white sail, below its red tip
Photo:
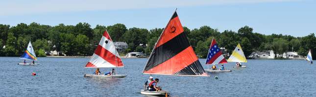
[[[108,50],[110,53],[113,55],[119,55],[118,52],[115,49],[114,43],[110,40],[107,39],[105,36],[102,36],[99,45]],[[115,54],[117,53],[117,54]]]

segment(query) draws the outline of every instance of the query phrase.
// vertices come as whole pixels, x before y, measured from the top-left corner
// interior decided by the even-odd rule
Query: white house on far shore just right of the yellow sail
[[[252,52],[249,55],[249,58],[254,58],[254,59],[274,59],[275,54],[273,50],[268,50],[268,51],[263,51],[263,52]]]

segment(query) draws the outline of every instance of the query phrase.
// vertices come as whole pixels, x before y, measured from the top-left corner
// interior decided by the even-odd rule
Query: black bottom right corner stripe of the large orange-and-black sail
[[[174,75],[205,75],[206,76],[207,74],[204,72],[204,69],[201,63],[199,62],[199,60],[196,60],[189,66],[174,73]]]

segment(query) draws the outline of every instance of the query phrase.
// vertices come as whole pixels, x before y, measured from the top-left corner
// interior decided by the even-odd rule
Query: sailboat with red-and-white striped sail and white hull
[[[85,68],[116,68],[124,67],[119,53],[115,49],[114,43],[110,35],[105,30],[103,36],[97,45],[90,61]],[[102,77],[102,78],[124,78],[127,75],[90,75],[85,74],[84,77]]]

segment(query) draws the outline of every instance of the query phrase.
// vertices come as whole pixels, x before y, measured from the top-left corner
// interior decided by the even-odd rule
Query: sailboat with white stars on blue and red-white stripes
[[[213,38],[209,52],[207,54],[205,64],[206,65],[209,65],[209,64],[216,65],[216,64],[223,64],[223,63],[227,63],[227,61],[224,58],[224,56],[222,55],[222,53],[219,49],[219,46],[216,43],[216,40]],[[209,66],[207,66],[207,67],[209,67]],[[231,72],[231,70],[212,70],[209,68],[207,68],[205,71],[208,71],[208,72]]]

